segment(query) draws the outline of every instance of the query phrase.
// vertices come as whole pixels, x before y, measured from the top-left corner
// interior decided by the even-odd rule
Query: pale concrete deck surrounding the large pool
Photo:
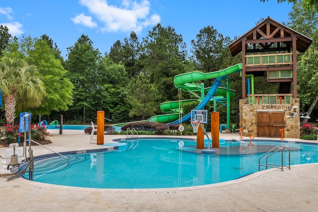
[[[63,130],[63,135],[59,135],[59,130],[49,132],[52,143],[46,146],[57,152],[105,147],[88,143],[89,135],[81,130]],[[106,143],[126,136],[105,135],[104,138]],[[220,138],[239,139],[239,134],[222,133]],[[0,148],[3,157],[6,148]],[[32,149],[35,156],[52,153],[42,146],[32,146]],[[4,171],[1,166],[0,173]],[[224,183],[171,189],[90,189],[37,183],[23,178],[6,181],[1,177],[0,195],[0,211],[3,212],[316,212],[318,163],[295,165],[284,171],[268,169]]]

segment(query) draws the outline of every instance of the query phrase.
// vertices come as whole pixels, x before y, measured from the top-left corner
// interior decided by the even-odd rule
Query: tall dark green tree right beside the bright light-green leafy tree
[[[74,46],[67,48],[68,59],[66,69],[68,77],[74,85],[72,110],[78,121],[86,122],[86,110],[94,109],[94,98],[99,95],[97,64],[100,52],[94,49],[93,42],[86,35],[81,35]]]

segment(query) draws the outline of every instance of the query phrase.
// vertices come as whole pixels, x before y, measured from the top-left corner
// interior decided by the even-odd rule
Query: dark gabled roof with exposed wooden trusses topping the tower
[[[242,51],[242,40],[245,38],[246,40],[260,40],[260,41],[269,43],[271,42],[271,39],[277,42],[279,38],[292,37],[293,34],[295,34],[297,37],[296,50],[300,53],[304,53],[308,49],[308,47],[312,44],[313,40],[271,19],[268,16],[262,22],[257,24],[254,28],[246,32],[244,35],[239,37],[233,43],[231,43],[229,45],[229,50],[231,52],[231,55],[234,57]],[[285,43],[286,45],[292,44],[292,41],[290,40],[289,41],[286,41],[284,39],[282,40],[283,40],[282,42]]]

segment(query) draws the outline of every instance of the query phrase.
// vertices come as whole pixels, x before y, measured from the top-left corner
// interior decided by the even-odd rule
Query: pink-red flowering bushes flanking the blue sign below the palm
[[[4,130],[0,130],[1,141],[6,143],[16,143],[20,137],[20,141],[24,141],[24,133],[19,133],[19,125],[16,124],[13,128],[10,128],[9,125],[4,124]],[[33,141],[43,141],[48,135],[48,132],[45,126],[34,126],[30,125],[31,139]],[[29,135],[28,132],[26,134]]]

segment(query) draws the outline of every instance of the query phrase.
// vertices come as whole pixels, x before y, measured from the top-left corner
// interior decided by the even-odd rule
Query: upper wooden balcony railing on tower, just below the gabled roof
[[[292,65],[293,53],[246,55],[246,66],[278,66]]]

